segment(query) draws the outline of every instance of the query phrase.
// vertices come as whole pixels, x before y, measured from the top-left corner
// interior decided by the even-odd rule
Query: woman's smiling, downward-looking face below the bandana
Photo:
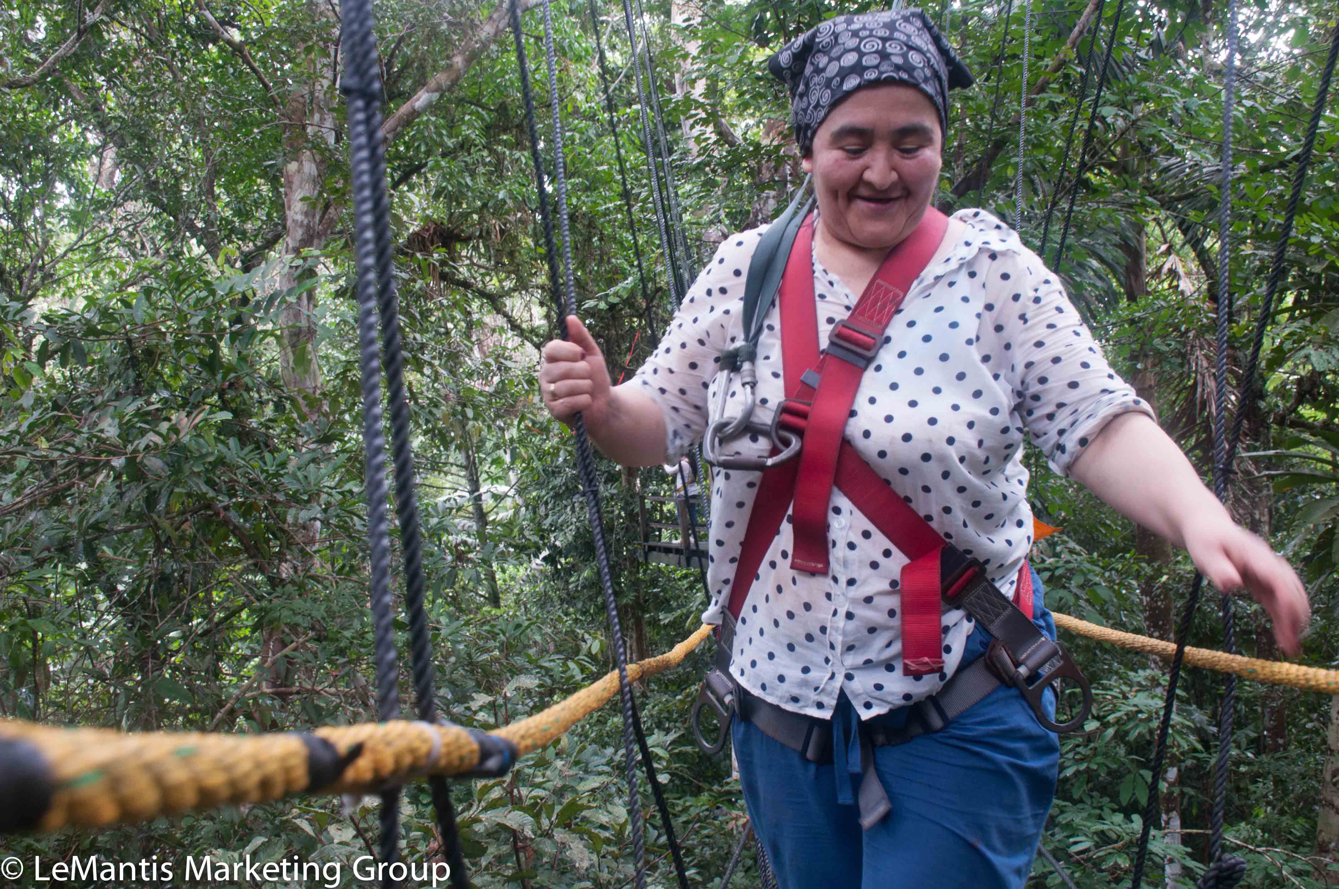
[[[848,96],[814,134],[814,175],[828,234],[886,250],[920,224],[939,179],[939,111],[916,87],[881,83]]]

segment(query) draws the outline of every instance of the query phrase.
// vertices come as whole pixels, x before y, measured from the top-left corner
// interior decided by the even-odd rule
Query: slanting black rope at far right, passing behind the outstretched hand
[[[1269,325],[1269,319],[1273,312],[1273,300],[1277,293],[1279,285],[1283,282],[1284,273],[1284,260],[1287,254],[1288,242],[1292,237],[1292,226],[1296,221],[1297,206],[1302,199],[1302,190],[1306,185],[1307,171],[1311,166],[1311,155],[1315,149],[1316,133],[1320,127],[1320,118],[1324,114],[1326,100],[1330,94],[1330,86],[1334,78],[1335,59],[1339,56],[1339,27],[1335,28],[1334,35],[1330,40],[1330,55],[1326,59],[1326,67],[1320,76],[1320,86],[1316,90],[1316,99],[1311,108],[1311,120],[1307,125],[1307,135],[1303,141],[1302,153],[1297,157],[1297,165],[1292,177],[1292,191],[1288,194],[1288,206],[1284,213],[1283,230],[1279,234],[1279,241],[1275,245],[1273,262],[1269,269],[1269,280],[1265,287],[1264,304],[1260,308],[1260,316],[1256,319],[1255,328],[1255,341],[1252,343],[1251,357],[1247,361],[1247,370],[1241,380],[1240,398],[1237,402],[1237,410],[1233,416],[1232,431],[1228,435],[1227,450],[1225,450],[1225,465],[1231,466],[1236,458],[1237,443],[1240,442],[1243,424],[1245,422],[1245,415],[1249,408],[1249,398],[1253,394],[1255,375],[1259,367],[1260,348],[1264,343],[1264,335]],[[1224,299],[1224,297],[1220,297]],[[1134,877],[1130,882],[1131,889],[1139,889],[1144,880],[1145,860],[1148,857],[1149,847],[1149,834],[1153,827],[1153,821],[1158,817],[1158,785],[1162,779],[1162,762],[1166,754],[1168,743],[1168,730],[1172,723],[1172,710],[1176,702],[1176,687],[1181,672],[1181,660],[1185,652],[1186,637],[1190,631],[1190,619],[1194,613],[1194,608],[1200,600],[1200,589],[1202,586],[1204,578],[1196,572],[1194,581],[1190,585],[1190,597],[1186,601],[1185,611],[1181,616],[1181,621],[1177,627],[1177,648],[1172,659],[1172,669],[1168,676],[1168,698],[1162,706],[1162,720],[1158,724],[1157,742],[1154,744],[1153,752],[1153,787],[1149,790],[1149,802],[1144,811],[1144,825],[1139,831],[1139,846],[1138,853],[1134,860]],[[1237,874],[1237,869],[1231,866],[1231,860],[1224,860],[1223,864],[1214,862],[1209,872],[1205,872],[1205,878],[1209,878],[1210,872],[1213,873],[1214,881],[1233,878]],[[1236,877],[1240,880],[1240,877]],[[1235,885],[1233,884],[1208,884],[1208,885]]]

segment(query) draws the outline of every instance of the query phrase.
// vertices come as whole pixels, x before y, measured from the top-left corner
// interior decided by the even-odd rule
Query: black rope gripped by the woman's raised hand
[[[557,74],[553,58],[553,19],[549,9],[548,0],[544,0],[544,51],[545,63],[549,72],[549,96],[553,111],[553,154],[554,154],[554,177],[553,182],[556,186],[557,195],[557,213],[558,213],[558,226],[562,238],[562,272],[564,272],[564,288],[558,291],[554,289],[554,296],[560,301],[560,331],[564,337],[566,337],[566,325],[562,324],[562,319],[566,315],[576,315],[576,285],[572,277],[572,236],[568,224],[566,213],[566,170],[562,157],[562,122],[558,118],[558,96],[557,96]],[[544,165],[540,158],[540,133],[534,120],[534,98],[530,92],[528,64],[525,59],[525,43],[521,35],[521,15],[517,7],[517,0],[510,3],[511,11],[511,31],[516,37],[517,50],[517,63],[521,68],[521,91],[526,108],[526,125],[530,133],[530,146],[533,151],[534,178],[538,183],[538,190],[541,194],[540,201],[540,214],[544,225],[544,241],[545,253],[549,261],[549,273],[553,278],[553,284],[557,285],[557,257],[554,249],[553,238],[553,217],[549,213],[548,199],[542,197],[545,171]],[[613,641],[615,660],[619,667],[619,698],[621,702],[623,711],[623,752],[624,752],[624,766],[628,782],[628,819],[632,834],[632,857],[633,866],[636,868],[636,886],[637,889],[645,889],[647,885],[647,861],[645,861],[645,835],[644,826],[641,821],[641,801],[637,794],[637,754],[636,742],[633,736],[633,703],[632,703],[632,687],[628,684],[628,653],[623,640],[623,627],[619,620],[619,607],[613,593],[613,577],[609,569],[609,550],[604,534],[604,521],[600,515],[600,491],[599,491],[599,477],[596,474],[595,454],[590,449],[590,439],[586,435],[585,420],[577,414],[572,420],[573,431],[576,432],[577,444],[577,471],[581,478],[581,487],[585,494],[586,502],[586,515],[590,521],[590,530],[595,537],[595,554],[596,554],[596,568],[600,574],[600,586],[604,590],[605,612],[609,619],[609,635]]]

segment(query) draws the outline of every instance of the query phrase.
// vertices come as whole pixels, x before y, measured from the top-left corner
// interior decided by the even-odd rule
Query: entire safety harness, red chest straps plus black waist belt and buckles
[[[795,204],[786,216],[790,216],[794,206]],[[774,224],[769,236],[793,225],[783,217]],[[782,457],[785,462],[769,461],[774,465],[763,469],[758,485],[758,497],[749,515],[730,588],[728,615],[718,635],[715,668],[707,673],[692,710],[694,734],[708,752],[719,752],[724,747],[730,719],[738,714],[811,762],[823,762],[830,756],[830,746],[825,740],[828,734],[818,724],[822,720],[786,711],[750,695],[731,679],[730,665],[735,624],[787,511],[794,525],[791,568],[815,574],[828,573],[828,513],[834,487],[908,558],[897,586],[901,592],[905,675],[943,671],[940,628],[945,604],[961,607],[992,636],[986,656],[955,672],[937,694],[912,704],[912,718],[905,724],[889,728],[877,719],[862,722],[861,731],[869,736],[870,743],[898,744],[917,735],[939,731],[1000,683],[1016,687],[1038,720],[1052,731],[1074,731],[1087,718],[1091,691],[1082,672],[1063,648],[1032,624],[1032,582],[1027,564],[1019,572],[1011,602],[991,582],[979,561],[940,537],[929,519],[917,514],[893,490],[892,482],[884,479],[845,439],[846,422],[865,368],[885,343],[889,323],[939,249],[947,226],[948,220],[941,213],[935,209],[927,212],[916,230],[884,258],[850,316],[833,327],[823,353],[818,351],[811,265],[813,218],[793,229],[794,242],[785,257],[785,273],[779,284],[782,366],[787,396],[774,412],[771,439],[774,458],[782,451],[778,442],[789,442],[787,451],[798,446],[799,455],[794,459]],[[770,266],[781,260],[779,253],[775,253],[762,262]],[[754,265],[759,265],[758,257],[750,265],[750,281],[754,278]],[[746,296],[746,315],[750,315],[747,303]],[[751,323],[746,320],[746,325]],[[750,343],[749,348],[755,349],[755,343]],[[734,364],[735,360],[731,357],[730,363]],[[744,426],[734,420],[719,420],[715,428],[732,424]],[[746,431],[754,432],[754,426],[757,424],[749,424]],[[711,450],[719,454],[719,440],[715,439],[723,436],[715,431],[711,435]],[[761,465],[762,461],[757,463],[759,467]],[[1047,715],[1042,694],[1062,677],[1079,685],[1083,704],[1074,719],[1056,723]],[[702,734],[700,711],[708,706],[720,719],[715,743]],[[886,797],[877,781],[865,783],[869,786],[870,799],[861,801],[861,821],[872,823],[872,819],[880,817],[878,813],[886,810]]]

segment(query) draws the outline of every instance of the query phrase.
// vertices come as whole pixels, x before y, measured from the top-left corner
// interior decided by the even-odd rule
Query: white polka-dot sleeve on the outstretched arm
[[[1051,469],[1074,459],[1114,416],[1153,410],[1111,370],[1059,277],[1031,250],[1000,252],[987,272],[980,337],[1000,387]],[[1156,419],[1156,418],[1154,418]]]

